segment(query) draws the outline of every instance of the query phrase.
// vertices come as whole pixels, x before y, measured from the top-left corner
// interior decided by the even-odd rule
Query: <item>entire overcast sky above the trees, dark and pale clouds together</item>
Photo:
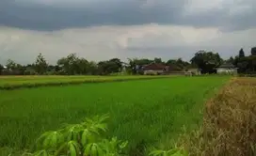
[[[228,58],[256,46],[255,0],[0,0],[0,63]]]

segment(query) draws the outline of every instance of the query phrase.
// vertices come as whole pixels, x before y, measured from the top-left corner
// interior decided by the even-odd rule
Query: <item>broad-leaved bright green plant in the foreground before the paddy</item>
[[[66,125],[57,131],[42,133],[37,151],[24,156],[120,156],[128,142],[103,138],[108,116],[86,118],[80,124]]]

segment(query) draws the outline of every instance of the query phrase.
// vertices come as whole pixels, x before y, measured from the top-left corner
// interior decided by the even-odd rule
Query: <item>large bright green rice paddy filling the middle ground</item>
[[[40,82],[40,79],[43,78],[0,78],[0,86]],[[0,147],[32,148],[45,131],[104,114],[110,116],[107,135],[128,140],[130,148],[141,142],[168,147],[183,126],[188,130],[197,128],[202,121],[200,111],[204,102],[229,79],[225,76],[159,77],[0,90]]]

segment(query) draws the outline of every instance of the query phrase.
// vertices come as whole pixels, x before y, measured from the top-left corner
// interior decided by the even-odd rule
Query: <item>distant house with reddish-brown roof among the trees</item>
[[[165,74],[168,72],[169,67],[160,63],[151,63],[142,67],[144,74]]]

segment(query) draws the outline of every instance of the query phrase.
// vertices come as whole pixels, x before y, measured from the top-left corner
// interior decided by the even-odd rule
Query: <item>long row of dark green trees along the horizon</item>
[[[125,72],[139,74],[143,65],[151,63],[165,64],[171,71],[182,71],[199,68],[202,73],[216,73],[221,64],[232,64],[240,73],[256,72],[256,47],[251,48],[250,55],[245,55],[243,49],[239,53],[225,60],[218,53],[200,50],[189,62],[182,58],[163,61],[161,58],[128,58],[127,63],[119,58],[112,58],[100,62],[88,61],[75,54],[67,55],[57,60],[56,65],[50,65],[43,55],[38,55],[33,64],[21,65],[8,59],[6,65],[0,64],[0,75],[109,75]]]

